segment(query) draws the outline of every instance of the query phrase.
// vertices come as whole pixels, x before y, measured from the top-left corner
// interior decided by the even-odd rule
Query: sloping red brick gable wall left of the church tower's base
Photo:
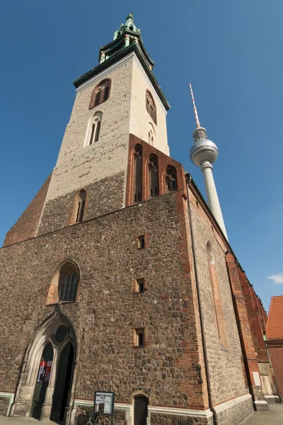
[[[51,176],[52,174],[50,174],[45,183],[43,183],[42,187],[35,195],[35,198],[33,198],[31,203],[28,205],[28,208],[25,209],[16,224],[8,231],[3,246],[16,244],[17,242],[24,241],[25,239],[35,237],[35,232],[45,203]]]

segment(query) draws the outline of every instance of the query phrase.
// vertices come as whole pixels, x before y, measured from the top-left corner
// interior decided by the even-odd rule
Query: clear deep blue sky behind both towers
[[[189,156],[192,82],[219,147],[214,179],[229,241],[268,309],[283,293],[282,0],[2,2],[0,242],[56,163],[72,81],[96,66],[131,11],[171,104],[171,157],[204,193]]]

